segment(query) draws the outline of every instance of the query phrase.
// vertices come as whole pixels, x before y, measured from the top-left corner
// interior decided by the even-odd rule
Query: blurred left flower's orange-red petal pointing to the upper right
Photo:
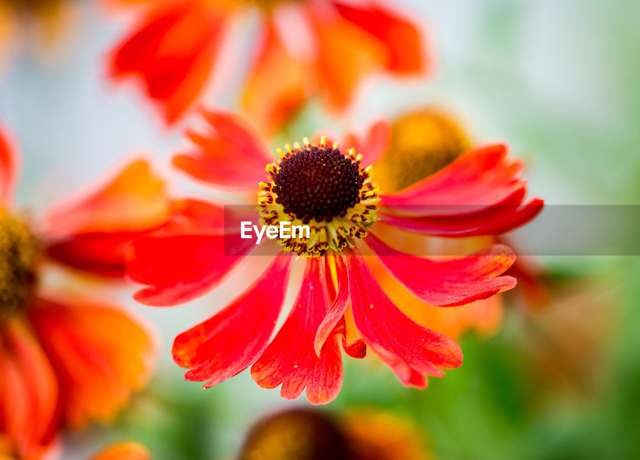
[[[134,161],[93,193],[72,196],[45,217],[49,257],[79,270],[124,276],[123,251],[163,225],[171,203],[147,161]]]

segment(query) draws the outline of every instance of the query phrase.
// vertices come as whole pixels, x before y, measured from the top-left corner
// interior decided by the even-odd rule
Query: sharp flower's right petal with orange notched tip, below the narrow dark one
[[[429,305],[464,305],[513,289],[517,283],[512,276],[497,276],[516,260],[503,244],[467,257],[430,260],[394,250],[371,233],[365,242],[398,282]]]

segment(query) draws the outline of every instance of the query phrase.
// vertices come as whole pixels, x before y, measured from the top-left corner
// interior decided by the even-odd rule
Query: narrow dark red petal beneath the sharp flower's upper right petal
[[[385,212],[379,212],[378,216],[389,225],[420,235],[444,237],[501,235],[531,221],[540,213],[543,206],[543,200],[533,198],[520,206],[496,205],[468,216],[409,218]]]

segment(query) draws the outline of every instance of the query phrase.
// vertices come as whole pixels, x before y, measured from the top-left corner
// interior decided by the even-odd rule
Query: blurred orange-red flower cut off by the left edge
[[[0,445],[31,460],[51,453],[63,425],[113,420],[147,382],[153,354],[120,308],[52,292],[44,278],[57,262],[122,276],[124,244],[163,225],[170,205],[163,183],[137,161],[27,222],[10,207],[16,163],[0,129]]]

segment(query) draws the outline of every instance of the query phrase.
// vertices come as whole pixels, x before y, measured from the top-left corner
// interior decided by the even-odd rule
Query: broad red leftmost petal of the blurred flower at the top
[[[225,33],[225,10],[202,0],[160,2],[109,59],[116,80],[139,77],[173,123],[204,89]]]

